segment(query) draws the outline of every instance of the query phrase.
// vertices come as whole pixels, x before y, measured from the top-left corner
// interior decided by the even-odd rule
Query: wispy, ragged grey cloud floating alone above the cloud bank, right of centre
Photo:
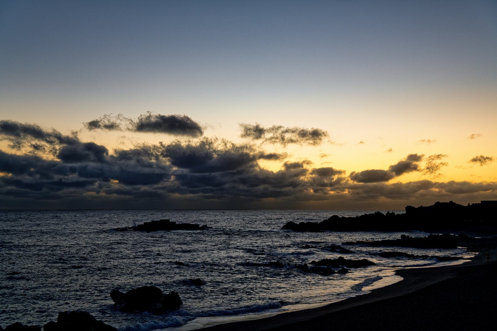
[[[294,143],[299,145],[317,146],[329,139],[328,132],[321,129],[299,127],[283,127],[273,125],[265,128],[260,124],[240,124],[240,137],[251,140],[262,140],[262,143],[281,144],[287,146]]]

